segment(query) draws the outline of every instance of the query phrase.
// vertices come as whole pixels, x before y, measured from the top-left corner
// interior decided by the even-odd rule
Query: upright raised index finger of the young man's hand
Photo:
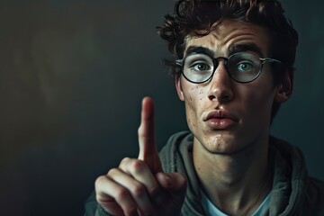
[[[144,97],[142,101],[139,125],[139,159],[148,165],[153,174],[162,171],[154,129],[154,105],[150,97]]]

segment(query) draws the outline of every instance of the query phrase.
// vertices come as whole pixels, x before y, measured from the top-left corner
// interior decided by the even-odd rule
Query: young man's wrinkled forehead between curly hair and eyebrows
[[[229,55],[230,49],[233,47],[249,44],[249,47],[258,49],[257,52],[260,52],[258,54],[266,57],[269,55],[269,41],[266,28],[262,26],[224,20],[219,25],[213,26],[212,31],[205,36],[189,35],[185,39],[184,53],[190,47],[204,47],[211,49],[215,56],[226,56]]]

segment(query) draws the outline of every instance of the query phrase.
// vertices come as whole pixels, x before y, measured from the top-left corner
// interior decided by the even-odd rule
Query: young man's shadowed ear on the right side
[[[284,71],[282,82],[277,86],[275,101],[283,103],[287,101],[293,93],[293,73]]]

